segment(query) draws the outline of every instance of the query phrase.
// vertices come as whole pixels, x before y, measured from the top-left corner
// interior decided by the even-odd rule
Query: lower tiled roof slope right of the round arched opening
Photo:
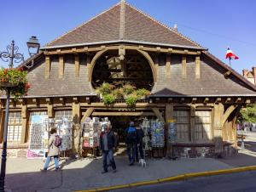
[[[182,66],[175,65],[173,58],[171,78],[159,78],[152,90],[153,97],[167,96],[253,96],[256,97],[256,87],[243,76],[220,62],[212,54],[201,54],[201,78],[195,78],[195,63],[187,63],[187,76],[182,74]],[[229,76],[224,74],[230,71]],[[166,76],[165,65],[159,67],[160,76]]]

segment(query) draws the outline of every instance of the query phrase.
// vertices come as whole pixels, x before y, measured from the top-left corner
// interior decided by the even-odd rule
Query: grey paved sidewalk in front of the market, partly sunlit
[[[255,142],[254,142],[255,139]],[[190,172],[207,172],[233,167],[256,165],[256,138],[245,139],[246,149],[240,150],[236,158],[211,159],[165,159],[147,160],[147,167],[128,166],[126,156],[115,158],[118,172],[102,174],[102,159],[61,161],[62,171],[39,172],[43,167],[42,160],[8,159],[6,189],[12,191],[55,191],[96,189],[113,185],[131,184],[159,178],[166,178]]]

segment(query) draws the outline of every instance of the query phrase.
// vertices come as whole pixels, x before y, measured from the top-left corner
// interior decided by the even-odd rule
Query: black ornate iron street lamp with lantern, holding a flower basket
[[[31,40],[32,38],[30,38]],[[30,48],[38,48],[39,49],[39,43],[38,39],[35,37],[33,39],[36,39],[37,41],[34,42],[34,44],[31,43],[31,41],[27,42],[28,49]],[[38,43],[38,44],[37,44]],[[30,46],[30,47],[29,47]],[[0,58],[4,62],[9,61],[9,68],[12,69],[14,67],[14,61],[15,63],[19,63],[20,61],[24,61],[23,54],[17,53],[19,48],[15,46],[15,41],[13,40],[10,45],[7,46],[6,52],[0,52]],[[38,50],[37,50],[38,52]],[[34,55],[34,54],[33,54]],[[32,57],[33,61],[33,55],[30,53],[30,56]],[[27,68],[32,67],[32,65],[27,66]],[[1,162],[1,173],[0,173],[0,192],[4,192],[4,178],[5,178],[5,169],[6,169],[6,155],[7,155],[7,135],[8,135],[8,121],[9,121],[9,98],[10,98],[10,89],[12,87],[15,87],[13,84],[7,84],[4,86],[6,88],[6,106],[5,106],[5,116],[4,116],[4,126],[3,126],[3,151],[2,151],[2,162]]]

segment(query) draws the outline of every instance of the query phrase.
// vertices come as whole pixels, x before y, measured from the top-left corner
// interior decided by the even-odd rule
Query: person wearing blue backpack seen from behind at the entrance
[[[127,154],[130,162],[130,166],[134,165],[136,145],[137,145],[137,133],[134,122],[130,122],[130,127],[125,129],[125,143],[127,145]]]

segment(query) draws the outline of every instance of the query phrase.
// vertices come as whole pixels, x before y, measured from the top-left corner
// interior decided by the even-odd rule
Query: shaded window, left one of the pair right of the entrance
[[[189,110],[174,110],[173,117],[176,120],[177,142],[189,142]]]

